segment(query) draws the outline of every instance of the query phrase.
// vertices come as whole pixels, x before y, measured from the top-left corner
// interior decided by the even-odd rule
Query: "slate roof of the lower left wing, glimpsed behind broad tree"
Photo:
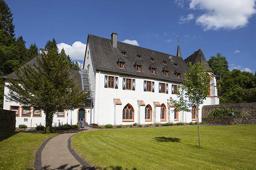
[[[37,58],[42,59],[42,56],[39,54],[37,57],[35,57],[35,58],[31,59],[29,62],[27,62],[26,65],[29,65],[31,68],[35,69],[35,66],[38,66]],[[35,66],[34,66],[34,64],[35,64]],[[23,68],[23,67],[24,67],[24,65],[21,68]],[[76,76],[75,81],[78,81],[77,85],[80,85],[81,88],[80,88],[79,91],[81,92],[83,90],[82,89],[81,74],[77,70],[69,70],[69,71],[71,72],[70,78],[73,77],[73,76]],[[15,80],[18,79],[15,72],[12,72],[11,74],[6,75],[5,77],[3,77],[3,79],[7,79],[8,77],[12,77]]]

